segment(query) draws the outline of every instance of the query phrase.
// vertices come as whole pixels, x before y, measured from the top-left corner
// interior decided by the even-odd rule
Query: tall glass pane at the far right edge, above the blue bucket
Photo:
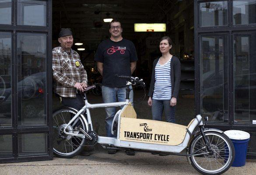
[[[256,124],[256,32],[233,37],[234,124]]]

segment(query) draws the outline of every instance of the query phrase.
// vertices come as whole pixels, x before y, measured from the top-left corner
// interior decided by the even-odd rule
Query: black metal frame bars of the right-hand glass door
[[[214,0],[228,2],[228,25],[214,27],[200,27],[199,25],[199,3],[213,2],[213,0],[194,0],[194,42],[195,42],[195,114],[200,114],[200,35],[210,33],[228,32],[228,124],[208,124],[209,128],[217,128],[220,130],[244,130],[256,131],[256,126],[252,125],[234,125],[234,67],[233,67],[233,32],[237,31],[256,31],[256,24],[250,25],[233,25],[232,7],[233,0]],[[247,153],[247,158],[256,159],[256,153]]]

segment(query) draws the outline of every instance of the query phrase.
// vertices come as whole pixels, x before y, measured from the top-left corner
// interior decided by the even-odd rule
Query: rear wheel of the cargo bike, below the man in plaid
[[[63,133],[70,119],[76,115],[70,108],[61,108],[53,112],[53,153],[60,158],[72,158],[82,151],[85,138]],[[80,129],[88,130],[81,116],[67,127],[69,133],[82,134]]]

